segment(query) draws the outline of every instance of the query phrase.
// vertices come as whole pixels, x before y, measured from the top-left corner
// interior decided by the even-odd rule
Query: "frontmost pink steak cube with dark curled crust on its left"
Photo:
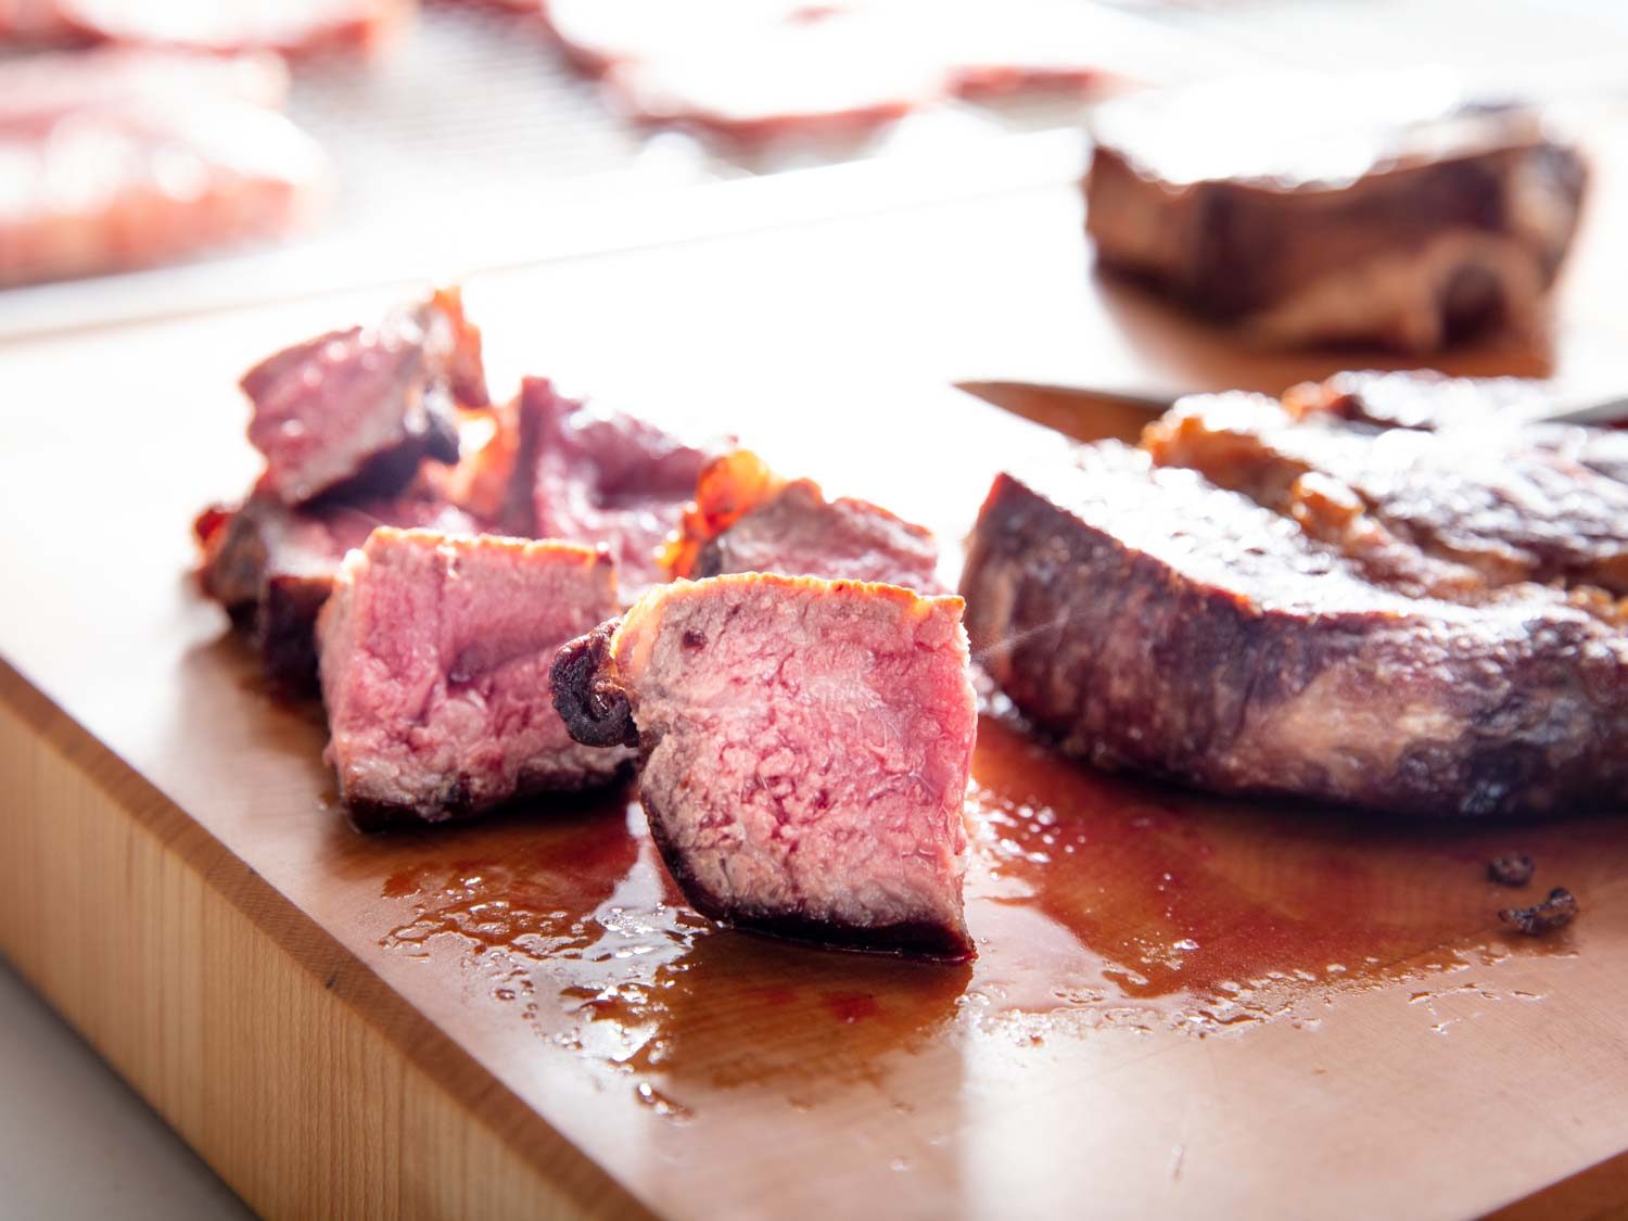
[[[591,744],[638,744],[640,801],[703,915],[959,959],[977,733],[961,599],[770,575],[677,581],[554,664]]]

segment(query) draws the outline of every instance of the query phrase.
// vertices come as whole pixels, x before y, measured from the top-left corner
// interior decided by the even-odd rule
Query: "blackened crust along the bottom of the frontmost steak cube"
[[[682,853],[666,834],[666,819],[653,807],[648,794],[640,793],[650,838],[654,840],[661,860],[679,884],[690,905],[715,925],[744,933],[825,946],[829,949],[856,951],[861,954],[891,954],[894,957],[930,959],[934,962],[967,962],[977,956],[965,925],[946,925],[933,920],[897,920],[889,925],[845,925],[835,920],[819,920],[794,912],[754,908],[729,904],[711,892],[690,871]]]

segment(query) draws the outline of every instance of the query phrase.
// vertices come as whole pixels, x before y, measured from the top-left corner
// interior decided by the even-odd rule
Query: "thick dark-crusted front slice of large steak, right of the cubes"
[[[995,480],[975,654],[1060,746],[1219,793],[1413,814],[1628,799],[1628,630],[1563,591],[1410,597],[1115,444]]]

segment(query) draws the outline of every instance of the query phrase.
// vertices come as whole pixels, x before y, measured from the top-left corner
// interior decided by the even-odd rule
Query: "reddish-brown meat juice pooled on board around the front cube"
[[[1490,858],[1530,853],[1530,895],[1565,884],[1587,908],[1628,855],[1618,817],[1470,825],[1223,803],[1092,772],[996,716],[967,819],[970,964],[718,930],[622,799],[392,837],[407,863],[383,881],[381,944],[454,969],[472,1003],[682,1120],[718,1088],[814,1105],[881,1081],[900,1053],[996,1027],[1026,1053],[1058,1031],[1315,1026],[1376,987],[1428,1000],[1478,964],[1574,952],[1573,933],[1501,930],[1496,910],[1527,891],[1490,882]]]

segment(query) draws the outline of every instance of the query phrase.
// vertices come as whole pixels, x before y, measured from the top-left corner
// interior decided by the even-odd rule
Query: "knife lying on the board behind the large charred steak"
[[[959,381],[956,387],[1014,415],[1073,436],[1076,441],[1135,443],[1149,422],[1184,397],[1182,394],[1148,394],[1027,381]],[[1530,420],[1532,423],[1576,425],[1628,423],[1628,396],[1561,397]]]

